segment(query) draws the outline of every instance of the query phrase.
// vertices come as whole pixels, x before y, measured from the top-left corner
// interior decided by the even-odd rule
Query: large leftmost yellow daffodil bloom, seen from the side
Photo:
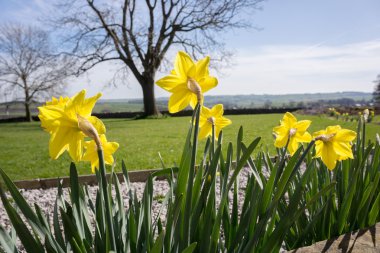
[[[50,157],[57,159],[68,150],[74,161],[82,157],[85,134],[78,127],[78,117],[85,118],[95,127],[99,134],[106,129],[102,121],[91,116],[93,107],[101,94],[85,98],[86,91],[82,90],[74,97],[62,103],[53,99],[51,103],[38,107],[41,126],[51,134],[49,142]]]

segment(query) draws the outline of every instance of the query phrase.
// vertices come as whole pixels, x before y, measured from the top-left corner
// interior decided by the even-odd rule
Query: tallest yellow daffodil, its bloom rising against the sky
[[[185,109],[189,104],[195,107],[202,100],[203,93],[218,84],[215,77],[209,75],[209,57],[195,62],[185,52],[178,52],[174,70],[171,74],[156,83],[164,90],[172,93],[169,99],[169,112],[176,113]]]

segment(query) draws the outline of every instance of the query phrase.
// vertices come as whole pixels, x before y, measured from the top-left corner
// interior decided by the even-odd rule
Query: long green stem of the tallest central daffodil
[[[199,117],[200,117],[200,104],[197,103],[195,109],[195,125],[194,125],[194,136],[193,136],[193,146],[191,152],[191,161],[190,161],[190,170],[189,178],[187,181],[187,196],[186,196],[186,205],[185,205],[185,219],[184,219],[184,234],[183,234],[183,244],[181,250],[185,249],[190,242],[190,216],[191,216],[191,200],[193,195],[193,181],[194,181],[194,172],[195,172],[195,162],[197,157],[197,146],[198,146],[198,132],[199,132]]]

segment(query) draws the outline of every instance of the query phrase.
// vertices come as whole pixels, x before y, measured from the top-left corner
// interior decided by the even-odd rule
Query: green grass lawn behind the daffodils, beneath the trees
[[[244,127],[244,140],[250,142],[261,136],[261,149],[272,154],[272,128],[282,118],[280,114],[227,116],[233,122],[224,131],[224,145],[235,143],[239,127]],[[343,122],[318,116],[297,116],[313,121],[310,132],[328,125],[356,129],[356,122]],[[185,141],[190,117],[166,119],[110,119],[104,120],[107,139],[120,144],[115,154],[116,170],[120,170],[123,159],[129,170],[160,167],[158,152],[166,165],[178,163]],[[368,124],[367,137],[374,140],[380,126]],[[49,134],[39,122],[0,124],[0,167],[14,180],[66,176],[69,173],[70,158],[64,154],[58,160],[51,160],[48,152]],[[202,150],[205,141],[200,142]],[[79,163],[80,174],[89,174],[89,163]]]

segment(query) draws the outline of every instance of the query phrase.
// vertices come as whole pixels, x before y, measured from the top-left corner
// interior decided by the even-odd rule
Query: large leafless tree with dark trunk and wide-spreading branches
[[[263,0],[66,0],[53,24],[63,28],[78,74],[106,61],[121,61],[141,85],[146,115],[158,114],[157,70],[171,47],[194,55],[226,56],[220,33],[248,26]],[[63,13],[57,16],[57,13]],[[222,52],[222,53],[221,53]]]

